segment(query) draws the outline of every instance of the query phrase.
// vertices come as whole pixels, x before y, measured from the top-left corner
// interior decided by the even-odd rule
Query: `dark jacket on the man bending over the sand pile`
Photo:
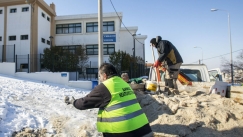
[[[158,61],[165,61],[168,66],[174,65],[176,63],[183,63],[180,53],[176,47],[168,40],[161,40],[156,46],[159,58]]]

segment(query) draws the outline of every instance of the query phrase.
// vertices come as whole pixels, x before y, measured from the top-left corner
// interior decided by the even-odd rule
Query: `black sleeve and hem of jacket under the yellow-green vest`
[[[91,108],[104,108],[109,104],[111,94],[103,83],[96,86],[88,95],[75,100],[73,106],[80,110]],[[149,124],[125,133],[103,133],[104,137],[140,137],[152,132]]]

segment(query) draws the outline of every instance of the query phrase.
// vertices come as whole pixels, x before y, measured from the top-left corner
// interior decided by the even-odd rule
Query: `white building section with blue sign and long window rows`
[[[117,16],[118,14],[118,16]],[[103,60],[114,51],[126,51],[133,55],[135,42],[135,56],[144,59],[144,41],[146,35],[136,35],[138,27],[121,27],[122,13],[103,14]],[[56,46],[83,45],[89,56],[90,67],[98,67],[98,14],[80,14],[57,16],[55,44]],[[135,39],[134,39],[135,38]]]

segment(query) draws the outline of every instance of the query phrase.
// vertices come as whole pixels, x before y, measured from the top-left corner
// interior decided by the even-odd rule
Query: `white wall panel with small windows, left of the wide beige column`
[[[22,8],[24,7],[29,7],[29,11],[22,12]],[[10,9],[13,8],[16,8],[17,12],[10,13]],[[31,7],[28,4],[7,7],[7,45],[15,44],[15,54],[17,55],[27,55],[30,53],[30,14]],[[28,35],[28,40],[20,40],[21,35]],[[9,41],[9,36],[16,36],[16,40]],[[7,48],[7,58],[13,55],[12,50],[12,48],[9,48],[9,50]]]

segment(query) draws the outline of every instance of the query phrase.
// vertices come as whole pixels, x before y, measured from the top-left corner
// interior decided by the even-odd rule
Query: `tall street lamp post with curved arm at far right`
[[[229,30],[229,42],[230,42],[230,67],[231,67],[231,83],[234,85],[234,76],[233,76],[233,58],[232,58],[232,42],[231,42],[231,30],[230,30],[230,14],[227,10],[223,9],[211,9],[212,12],[214,11],[224,11],[228,14],[228,30]]]

